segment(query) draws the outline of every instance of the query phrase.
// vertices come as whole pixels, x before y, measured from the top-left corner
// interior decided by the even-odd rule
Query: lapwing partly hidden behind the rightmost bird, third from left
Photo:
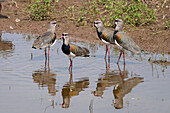
[[[93,26],[96,27],[96,31],[99,39],[106,44],[105,60],[106,60],[107,52],[108,52],[108,58],[110,59],[109,44],[115,44],[115,41],[113,39],[114,31],[110,29],[106,29],[102,21],[95,21]]]

